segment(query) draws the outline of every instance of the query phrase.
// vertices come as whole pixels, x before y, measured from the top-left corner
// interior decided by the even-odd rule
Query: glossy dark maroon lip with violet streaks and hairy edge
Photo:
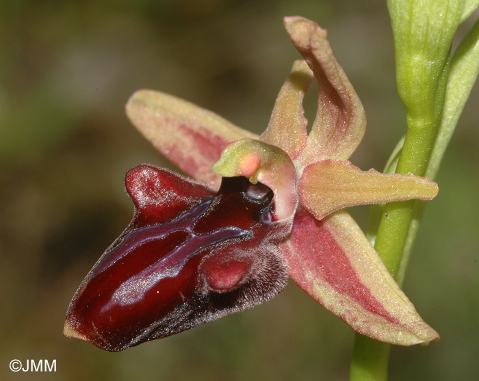
[[[125,179],[135,215],[80,285],[65,332],[120,351],[269,300],[287,282],[273,194],[246,178],[217,194],[151,166]],[[289,232],[287,232],[289,233]]]

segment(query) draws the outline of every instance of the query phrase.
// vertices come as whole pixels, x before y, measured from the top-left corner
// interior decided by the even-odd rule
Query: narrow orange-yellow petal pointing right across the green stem
[[[362,171],[350,161],[341,160],[310,164],[299,183],[302,205],[318,220],[345,207],[415,198],[431,200],[437,192],[437,183],[425,177]]]

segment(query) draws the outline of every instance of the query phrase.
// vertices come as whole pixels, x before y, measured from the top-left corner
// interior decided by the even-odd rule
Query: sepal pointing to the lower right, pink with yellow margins
[[[318,221],[300,207],[281,248],[291,278],[355,331],[398,345],[439,340],[346,211]]]

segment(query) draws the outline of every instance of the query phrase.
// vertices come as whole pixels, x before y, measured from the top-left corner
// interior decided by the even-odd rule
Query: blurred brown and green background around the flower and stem
[[[382,169],[404,133],[383,2],[0,1],[0,379],[348,379],[352,330],[294,284],[250,311],[125,352],[62,336],[70,298],[131,218],[123,174],[168,166],[125,117],[129,96],[162,90],[263,131],[299,58],[281,21],[293,14],[328,29],[368,117],[352,161]],[[478,378],[478,101],[476,88],[404,286],[442,338],[394,347],[391,380]],[[307,107],[312,117],[314,90]],[[367,209],[352,213],[365,226]],[[12,373],[14,358],[56,359],[57,371]]]

